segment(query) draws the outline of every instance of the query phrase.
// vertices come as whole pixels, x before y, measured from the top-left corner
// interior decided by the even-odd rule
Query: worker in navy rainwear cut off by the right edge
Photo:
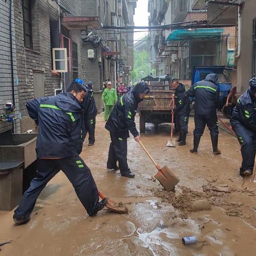
[[[252,175],[256,152],[256,77],[249,81],[249,89],[237,100],[230,123],[241,145],[240,175]]]

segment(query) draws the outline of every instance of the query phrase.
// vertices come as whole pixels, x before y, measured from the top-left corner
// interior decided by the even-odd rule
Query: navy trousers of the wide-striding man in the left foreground
[[[36,199],[46,184],[62,170],[75,188],[76,194],[88,214],[94,213],[99,202],[98,189],[90,169],[79,156],[60,159],[37,159],[37,177],[30,183],[20,204],[14,211],[14,218],[28,219]]]

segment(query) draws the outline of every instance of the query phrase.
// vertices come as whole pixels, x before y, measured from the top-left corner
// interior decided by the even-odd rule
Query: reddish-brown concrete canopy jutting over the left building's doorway
[[[61,18],[61,24],[69,30],[101,28],[99,17],[67,16]]]

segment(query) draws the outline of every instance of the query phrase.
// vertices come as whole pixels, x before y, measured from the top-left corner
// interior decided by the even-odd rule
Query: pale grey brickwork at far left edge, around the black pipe
[[[0,114],[4,114],[4,106],[6,102],[12,102],[12,79],[11,79],[11,50],[10,50],[10,30],[9,30],[9,1],[5,3],[1,1],[0,4]],[[13,18],[12,7],[12,20]],[[17,61],[15,49],[15,29],[12,22],[12,44],[13,44],[13,71],[14,71],[14,96],[15,96],[15,111],[16,117],[19,115],[19,99],[17,90]],[[17,120],[17,129],[15,132],[20,131],[20,121]],[[0,122],[0,133],[12,129],[12,124]]]

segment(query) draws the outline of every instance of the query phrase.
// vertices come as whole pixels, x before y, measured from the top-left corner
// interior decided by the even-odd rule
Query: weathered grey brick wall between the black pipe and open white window
[[[33,50],[25,49],[23,36],[23,15],[20,1],[14,0],[15,37],[17,42],[17,71],[19,77],[19,102],[21,131],[33,129],[34,121],[28,117],[26,102],[34,99],[33,71],[44,73],[45,96],[53,95],[60,87],[60,78],[51,75],[50,18],[58,19],[58,6],[55,9],[46,0],[36,0],[32,4]]]

